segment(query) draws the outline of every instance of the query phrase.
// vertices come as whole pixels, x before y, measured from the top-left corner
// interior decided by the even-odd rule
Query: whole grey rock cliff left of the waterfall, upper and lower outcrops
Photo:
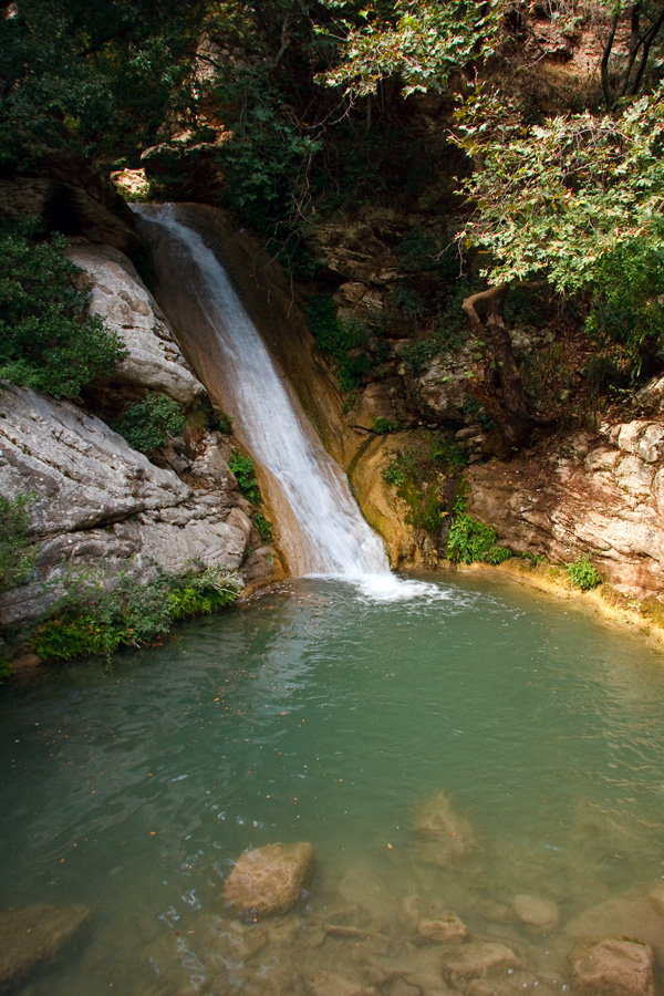
[[[90,408],[146,390],[185,409],[200,403],[206,390],[129,259],[81,240],[71,257],[92,281],[91,310],[128,350]],[[156,568],[243,564],[248,590],[278,575],[278,556],[252,527],[228,468],[232,444],[217,430],[173,439],[156,466],[91,411],[0,382],[0,492],[29,496],[37,549],[33,574],[0,596],[3,627],[38,619],[72,570],[98,571],[112,583],[121,571],[148,580]]]

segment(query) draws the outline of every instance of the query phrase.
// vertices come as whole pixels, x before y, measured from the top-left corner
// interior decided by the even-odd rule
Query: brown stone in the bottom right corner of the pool
[[[649,944],[604,937],[570,954],[575,996],[655,996]]]

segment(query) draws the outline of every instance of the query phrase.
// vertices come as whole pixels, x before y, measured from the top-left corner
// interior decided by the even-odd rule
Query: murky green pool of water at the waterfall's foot
[[[434,950],[465,992],[418,934],[442,910],[464,945],[517,953],[501,985],[564,990],[584,911],[664,879],[664,658],[508,583],[435,585],[392,603],[300,581],[4,689],[1,905],[94,911],[19,992],[307,993],[325,969],[416,996]],[[452,859],[414,832],[440,792],[471,838]],[[229,925],[234,859],[297,840],[317,855],[301,906]],[[521,893],[558,923],[522,922]]]

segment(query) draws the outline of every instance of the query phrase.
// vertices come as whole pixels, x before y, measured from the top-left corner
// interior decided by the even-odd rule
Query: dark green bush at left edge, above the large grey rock
[[[77,397],[126,350],[97,315],[87,314],[90,293],[65,245],[61,236],[40,240],[29,222],[0,231],[0,377]]]

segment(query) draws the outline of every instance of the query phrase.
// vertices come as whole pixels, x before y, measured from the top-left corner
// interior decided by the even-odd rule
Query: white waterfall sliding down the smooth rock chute
[[[172,205],[138,212],[167,238],[177,266],[177,326],[188,335],[204,321],[214,333],[224,367],[224,396],[235,430],[260,461],[292,515],[287,547],[293,573],[360,578],[388,574],[381,539],[363,519],[345,474],[315,436],[294,394],[289,393],[226,270],[201,236],[176,218]],[[208,341],[209,335],[208,335]],[[276,507],[270,489],[270,498]],[[294,527],[293,527],[294,523]]]

